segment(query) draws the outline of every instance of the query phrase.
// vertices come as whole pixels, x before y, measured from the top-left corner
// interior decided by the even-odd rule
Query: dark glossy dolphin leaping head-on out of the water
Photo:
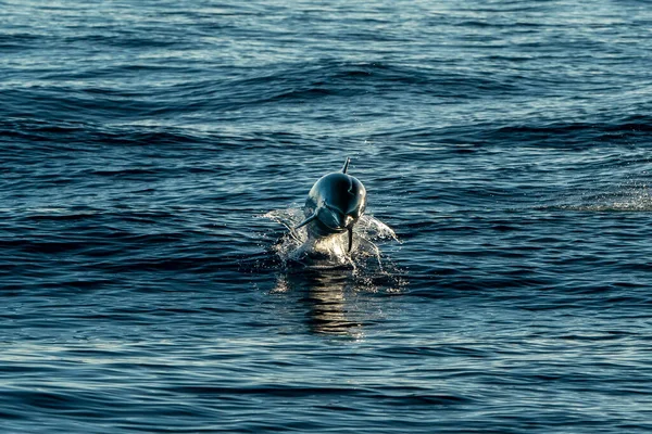
[[[347,174],[350,162],[347,157],[341,171],[325,175],[314,183],[303,208],[305,219],[294,228],[305,226],[313,239],[349,232],[349,252],[353,246],[353,225],[366,208],[366,189]]]

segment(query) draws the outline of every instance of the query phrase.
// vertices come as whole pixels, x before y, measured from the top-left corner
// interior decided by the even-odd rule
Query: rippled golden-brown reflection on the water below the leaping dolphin
[[[314,333],[362,336],[351,299],[359,289],[352,270],[303,270],[278,276],[273,292],[291,293],[308,307],[306,324]]]

